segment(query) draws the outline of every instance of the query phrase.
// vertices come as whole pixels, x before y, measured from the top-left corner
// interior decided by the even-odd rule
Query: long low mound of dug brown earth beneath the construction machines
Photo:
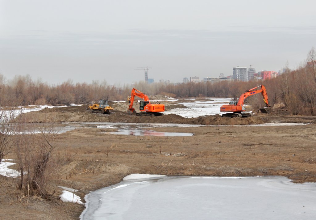
[[[125,104],[125,103],[123,103]],[[126,104],[125,104],[126,105]],[[61,108],[45,108],[22,114],[25,122],[49,123],[49,122],[119,122],[119,123],[177,123],[177,124],[199,124],[199,125],[247,125],[261,124],[260,117],[228,118],[220,115],[199,116],[196,118],[185,118],[175,114],[148,117],[130,115],[123,111],[112,110],[111,114],[92,113],[87,110],[87,105],[69,106]],[[19,117],[19,118],[20,118]],[[18,119],[19,119],[18,118]]]

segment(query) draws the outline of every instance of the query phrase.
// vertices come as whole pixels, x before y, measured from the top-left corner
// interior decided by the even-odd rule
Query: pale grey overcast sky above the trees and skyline
[[[316,46],[312,0],[0,0],[0,72],[49,84],[296,68]]]

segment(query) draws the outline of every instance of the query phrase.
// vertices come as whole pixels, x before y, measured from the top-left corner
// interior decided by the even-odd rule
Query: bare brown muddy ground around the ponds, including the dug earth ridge
[[[179,106],[178,106],[179,107]],[[109,134],[115,129],[80,128],[60,134],[54,157],[60,167],[57,186],[79,189],[83,200],[91,190],[118,183],[131,173],[198,176],[282,175],[297,183],[316,182],[316,118],[288,116],[285,109],[251,119],[177,115],[136,117],[119,110],[90,113],[85,106],[27,113],[33,122],[133,122],[217,125],[151,128],[193,136],[132,136]],[[250,126],[271,122],[310,123],[296,126]],[[238,124],[242,124],[239,126]],[[293,156],[295,155],[295,156]],[[11,157],[10,157],[11,156]],[[9,155],[15,159],[14,154]],[[84,205],[25,198],[12,178],[0,176],[1,219],[79,219]],[[84,200],[83,200],[84,202]]]

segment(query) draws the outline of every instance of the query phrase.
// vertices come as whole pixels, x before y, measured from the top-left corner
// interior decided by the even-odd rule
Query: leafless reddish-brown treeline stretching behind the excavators
[[[146,84],[135,83],[133,87],[147,95],[162,94],[174,98],[185,97],[232,97],[238,98],[243,92],[263,84],[267,88],[269,103],[284,104],[292,115],[316,115],[316,52],[312,48],[305,64],[296,70],[286,68],[281,76],[264,81],[222,81],[216,83],[186,84]],[[43,105],[43,104],[84,104],[99,99],[113,101],[126,100],[132,87],[107,85],[106,82],[72,83],[71,80],[60,85],[48,85],[40,79],[34,81],[29,75],[15,76],[6,82],[0,74],[1,106]],[[248,104],[261,107],[262,97],[249,97]]]

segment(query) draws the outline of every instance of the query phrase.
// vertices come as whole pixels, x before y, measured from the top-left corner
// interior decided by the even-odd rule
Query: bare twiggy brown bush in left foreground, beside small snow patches
[[[38,194],[50,198],[50,180],[54,174],[54,161],[50,160],[54,150],[55,132],[52,124],[33,124],[27,115],[20,115],[15,120],[15,137],[13,138],[20,178],[17,188],[25,195]],[[38,126],[36,126],[38,125]]]

